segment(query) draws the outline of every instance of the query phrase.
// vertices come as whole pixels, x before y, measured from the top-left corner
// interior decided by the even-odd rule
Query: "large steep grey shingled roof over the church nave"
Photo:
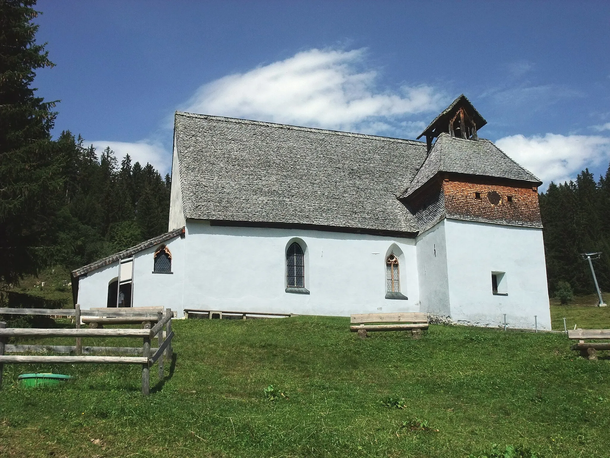
[[[182,112],[175,141],[187,219],[418,232],[422,142]]]

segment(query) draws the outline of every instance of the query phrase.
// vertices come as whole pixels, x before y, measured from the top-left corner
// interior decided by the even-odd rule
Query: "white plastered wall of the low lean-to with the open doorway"
[[[163,306],[182,313],[184,291],[184,239],[163,242],[171,252],[172,274],[153,274],[154,252],[159,245],[134,255],[132,307]],[[79,278],[78,302],[83,310],[106,307],[108,286],[118,277],[118,261]]]

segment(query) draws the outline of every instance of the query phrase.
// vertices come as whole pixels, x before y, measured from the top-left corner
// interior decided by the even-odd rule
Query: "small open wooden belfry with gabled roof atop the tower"
[[[430,151],[432,140],[443,132],[450,134],[451,137],[478,140],[476,131],[486,124],[487,121],[476,111],[470,100],[462,94],[447,109],[434,118],[434,121],[430,123],[417,139],[419,140],[425,136],[428,151]]]

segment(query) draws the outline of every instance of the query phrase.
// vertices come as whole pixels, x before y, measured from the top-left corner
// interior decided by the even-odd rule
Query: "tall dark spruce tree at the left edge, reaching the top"
[[[38,45],[34,0],[0,1],[0,278],[15,281],[46,261],[63,186],[62,155],[51,140],[55,102],[32,87],[53,67]]]

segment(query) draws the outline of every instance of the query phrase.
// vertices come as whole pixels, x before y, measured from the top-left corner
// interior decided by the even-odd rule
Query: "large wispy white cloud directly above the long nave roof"
[[[394,92],[376,89],[377,72],[357,68],[363,61],[363,49],[310,49],[204,84],[182,109],[328,129],[404,133],[400,122],[405,116],[444,107],[445,96],[428,85],[403,85]]]

